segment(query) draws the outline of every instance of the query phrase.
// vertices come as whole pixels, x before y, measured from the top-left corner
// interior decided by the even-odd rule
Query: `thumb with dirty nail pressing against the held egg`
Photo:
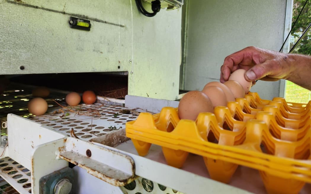
[[[254,65],[251,69],[245,72],[245,79],[248,81],[256,81],[269,75],[272,71],[272,66],[267,61],[261,64]]]

